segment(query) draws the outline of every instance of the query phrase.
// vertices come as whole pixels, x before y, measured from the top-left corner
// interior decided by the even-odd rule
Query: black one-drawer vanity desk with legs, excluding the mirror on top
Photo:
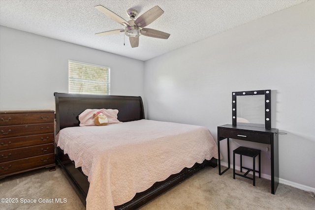
[[[218,126],[219,174],[222,175],[230,168],[229,138],[268,144],[271,154],[271,193],[275,194],[279,184],[278,131],[276,128],[266,129],[248,125]],[[228,168],[221,172],[220,142],[223,139],[227,139]]]

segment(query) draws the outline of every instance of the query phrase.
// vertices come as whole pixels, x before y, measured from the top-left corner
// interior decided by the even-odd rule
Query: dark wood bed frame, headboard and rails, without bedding
[[[56,134],[65,127],[79,126],[78,116],[86,109],[118,109],[118,120],[126,122],[144,118],[143,102],[140,96],[114,96],[114,95],[86,95],[55,92],[56,100]],[[81,170],[75,168],[74,162],[69,159],[63,150],[56,146],[56,161],[63,169],[64,174],[76,191],[82,203],[86,205],[89,182]],[[134,198],[121,205],[116,210],[138,209],[163,192],[186,180],[206,166],[217,166],[217,159],[205,160],[196,163],[191,168],[184,168],[180,173],[171,175],[164,181],[156,182],[144,192],[137,193]]]

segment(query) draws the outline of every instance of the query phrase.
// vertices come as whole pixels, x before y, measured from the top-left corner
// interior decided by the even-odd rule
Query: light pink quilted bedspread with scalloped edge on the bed
[[[218,159],[207,128],[154,120],[64,128],[56,142],[88,176],[87,210],[114,210],[185,167]]]

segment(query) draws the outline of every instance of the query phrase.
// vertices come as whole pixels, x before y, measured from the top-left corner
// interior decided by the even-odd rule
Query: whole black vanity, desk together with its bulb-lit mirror
[[[232,92],[232,124],[218,126],[219,175],[230,168],[230,138],[268,144],[271,193],[275,194],[279,184],[278,135],[279,130],[271,128],[271,90]],[[223,139],[227,139],[228,167],[221,172],[220,142]]]

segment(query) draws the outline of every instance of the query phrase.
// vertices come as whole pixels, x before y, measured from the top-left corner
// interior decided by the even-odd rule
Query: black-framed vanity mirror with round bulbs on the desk
[[[271,128],[271,90],[232,92],[232,124]]]

